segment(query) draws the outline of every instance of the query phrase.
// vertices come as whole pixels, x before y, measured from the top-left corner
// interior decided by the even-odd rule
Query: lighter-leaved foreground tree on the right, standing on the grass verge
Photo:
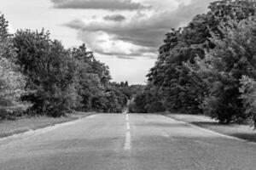
[[[254,19],[230,20],[219,26],[222,36],[212,33],[215,48],[199,62],[208,73],[210,94],[204,101],[204,111],[220,122],[244,118],[239,98],[240,79],[243,75],[256,77],[256,22]]]

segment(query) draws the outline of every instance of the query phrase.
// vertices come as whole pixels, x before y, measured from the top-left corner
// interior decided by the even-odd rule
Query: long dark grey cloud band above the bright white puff
[[[82,20],[73,20],[66,26],[79,30],[80,35],[89,32],[106,32],[119,41],[130,42],[156,53],[166,32],[171,28],[183,26],[196,14],[207,12],[207,6],[211,2],[212,0],[193,0],[187,5],[180,5],[175,11],[156,12],[150,17],[137,14],[131,20],[127,19],[121,24],[117,22],[109,25],[108,22],[92,21],[88,23]],[[83,36],[81,39],[86,42]],[[144,55],[145,53],[146,51],[139,49],[134,52],[135,55]]]

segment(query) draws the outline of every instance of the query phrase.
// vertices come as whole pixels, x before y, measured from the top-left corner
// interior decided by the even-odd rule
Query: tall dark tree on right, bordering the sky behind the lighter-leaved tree
[[[207,81],[189,67],[196,70],[195,59],[204,59],[206,52],[216,47],[209,41],[211,31],[223,38],[220,23],[247,19],[255,14],[254,6],[253,1],[217,1],[210,4],[207,14],[198,14],[188,26],[166,34],[159,57],[148,74],[148,84],[157,89],[167,110],[202,112],[201,103],[210,93]]]

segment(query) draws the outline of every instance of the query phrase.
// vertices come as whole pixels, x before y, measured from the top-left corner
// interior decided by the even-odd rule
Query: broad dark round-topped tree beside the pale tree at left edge
[[[70,110],[69,88],[74,63],[61,42],[52,41],[48,31],[17,31],[16,63],[28,77],[26,88],[35,91],[23,99],[32,102],[35,114],[61,116]]]

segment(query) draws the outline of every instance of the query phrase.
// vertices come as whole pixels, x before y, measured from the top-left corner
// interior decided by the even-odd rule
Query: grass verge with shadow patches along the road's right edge
[[[183,122],[189,122],[199,127],[204,127],[222,133],[225,135],[233,136],[239,139],[245,139],[250,142],[256,142],[256,130],[248,125],[241,125],[236,123],[219,124],[207,116],[186,115],[186,114],[167,114],[173,119]]]

